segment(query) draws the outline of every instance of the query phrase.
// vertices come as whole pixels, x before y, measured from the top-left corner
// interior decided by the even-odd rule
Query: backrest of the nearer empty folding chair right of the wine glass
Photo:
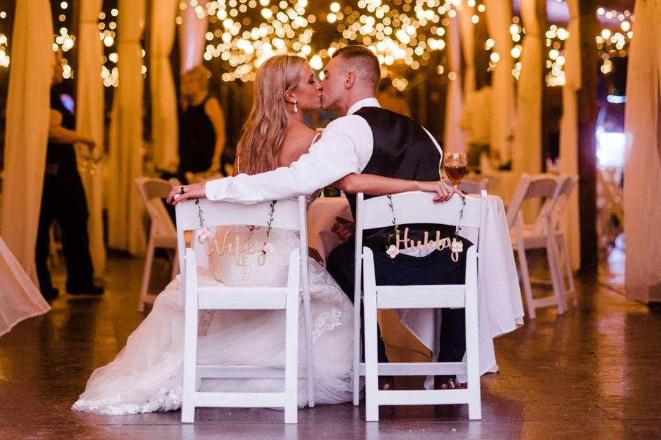
[[[541,222],[550,219],[551,212],[556,198],[558,197],[558,190],[560,189],[560,180],[558,177],[552,175],[536,175],[530,176],[523,173],[521,178],[518,179],[516,191],[507,207],[507,225],[512,228],[516,219],[520,218],[521,208],[523,202],[529,199],[544,199],[544,204],[538,212],[535,228],[541,227]]]

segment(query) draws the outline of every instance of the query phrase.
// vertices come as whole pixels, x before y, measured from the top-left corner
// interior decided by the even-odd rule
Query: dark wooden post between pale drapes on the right
[[[578,2],[580,13],[580,54],[582,87],[578,90],[578,190],[580,210],[580,267],[597,273],[596,176],[597,140],[595,136],[598,102],[598,52],[594,42],[599,33],[596,0]]]

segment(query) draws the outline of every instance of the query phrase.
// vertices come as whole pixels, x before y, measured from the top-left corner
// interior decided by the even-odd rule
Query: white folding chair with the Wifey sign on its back
[[[269,222],[269,202],[242,205],[225,201],[200,199],[205,226],[223,225],[266,226]],[[185,249],[186,231],[200,228],[198,207],[187,200],[176,206],[177,239],[182,270],[185,313],[184,384],[182,393],[182,423],[192,423],[198,407],[282,407],[285,423],[297,422],[297,377],[307,377],[309,406],[314,406],[313,351],[310,295],[308,292],[308,246],[306,232],[306,200],[281,200],[275,205],[271,227],[300,233],[300,248],[289,256],[286,286],[274,287],[198,287],[195,252]],[[302,281],[301,281],[302,280]],[[298,366],[298,302],[303,292],[306,366]],[[285,352],[283,369],[260,366],[198,365],[198,309],[284,309]],[[284,391],[274,393],[211,393],[196,388],[203,378],[220,377],[284,377]]]

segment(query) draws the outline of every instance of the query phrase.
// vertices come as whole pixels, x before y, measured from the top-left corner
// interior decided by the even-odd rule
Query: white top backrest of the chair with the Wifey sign
[[[252,205],[233,203],[229,201],[211,201],[209,199],[189,199],[177,203],[175,212],[177,219],[177,243],[179,248],[179,265],[181,273],[185,273],[185,233],[202,228],[215,228],[228,225],[269,226],[271,221],[271,205],[273,201],[262,201]],[[304,285],[307,285],[308,232],[306,223],[306,198],[297,200],[279,200],[273,204],[272,228],[300,232],[300,255]]]

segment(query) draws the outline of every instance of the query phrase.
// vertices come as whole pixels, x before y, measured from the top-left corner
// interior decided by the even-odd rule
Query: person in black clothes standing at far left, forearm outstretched
[[[43,179],[43,194],[36,239],[36,272],[41,294],[55,298],[59,292],[52,285],[48,270],[50,226],[54,220],[62,230],[62,247],[67,266],[66,289],[69,294],[103,294],[103,287],[93,283],[94,270],[87,236],[87,201],[83,181],[78,174],[74,143],[94,148],[94,139],[76,131],[74,98],[63,83],[61,54],[56,54],[53,85],[50,89],[50,125]]]

